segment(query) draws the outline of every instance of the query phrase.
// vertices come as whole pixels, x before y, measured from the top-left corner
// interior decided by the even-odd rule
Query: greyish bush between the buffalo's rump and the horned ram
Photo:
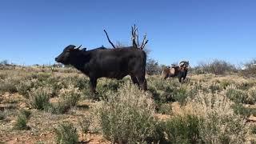
[[[161,74],[161,66],[154,59],[150,58],[146,62],[146,74]]]

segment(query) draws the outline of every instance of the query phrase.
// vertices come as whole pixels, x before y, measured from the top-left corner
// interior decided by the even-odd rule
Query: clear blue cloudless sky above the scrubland
[[[130,45],[130,26],[147,33],[149,57],[170,65],[256,58],[254,0],[2,0],[0,61],[49,64],[67,45]]]

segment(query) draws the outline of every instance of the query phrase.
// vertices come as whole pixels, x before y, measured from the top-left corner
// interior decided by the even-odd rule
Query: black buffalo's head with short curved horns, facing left
[[[82,45],[81,45],[82,46]],[[62,51],[62,54],[59,54],[57,58],[55,58],[56,62],[61,62],[64,65],[68,65],[70,64],[70,58],[74,57],[74,55],[78,52],[81,51],[80,47],[78,46],[76,48],[76,46],[74,45],[70,45],[70,46],[66,46],[66,48]],[[86,48],[84,48],[83,50],[85,50]],[[73,56],[72,56],[73,55]]]

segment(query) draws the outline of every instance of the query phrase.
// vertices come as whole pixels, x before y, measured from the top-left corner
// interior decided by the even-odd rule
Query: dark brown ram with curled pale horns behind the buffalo
[[[178,82],[182,82],[186,78],[187,70],[190,66],[188,61],[179,62],[179,66],[170,66],[166,67],[162,70],[162,77],[164,79],[169,77],[178,77]]]

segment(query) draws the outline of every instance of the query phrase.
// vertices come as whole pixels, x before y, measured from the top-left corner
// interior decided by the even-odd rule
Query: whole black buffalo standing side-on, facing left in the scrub
[[[98,78],[122,79],[126,75],[143,90],[146,86],[146,53],[133,46],[94,50],[79,50],[76,46],[66,46],[62,54],[55,58],[56,62],[72,65],[90,78],[90,88],[95,94]],[[79,46],[80,47],[80,46]]]

